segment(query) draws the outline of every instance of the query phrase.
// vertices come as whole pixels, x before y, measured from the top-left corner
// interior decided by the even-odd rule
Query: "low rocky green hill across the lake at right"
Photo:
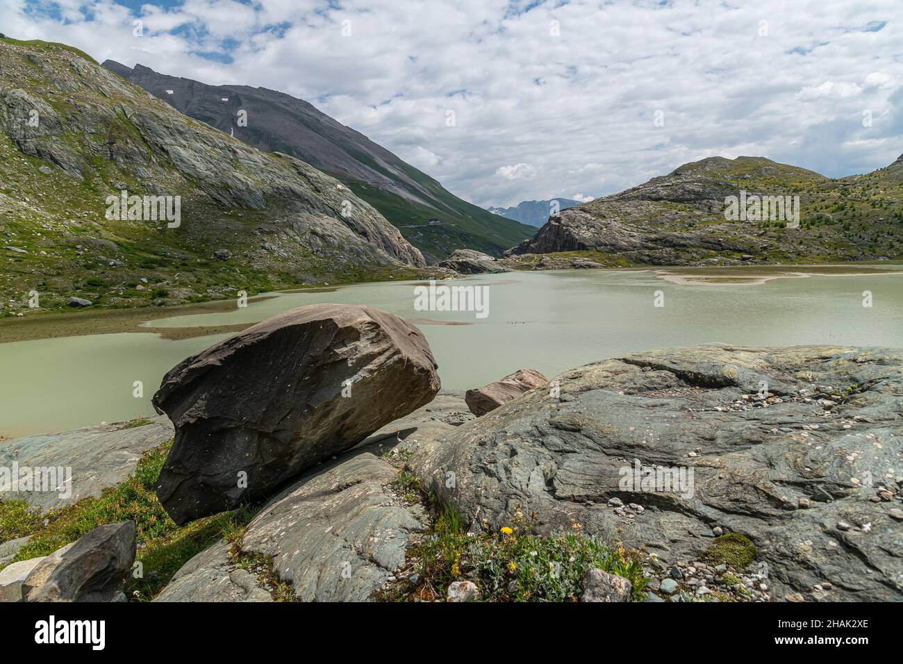
[[[743,216],[741,192],[748,203]],[[733,219],[726,218],[730,196],[738,199]],[[790,196],[791,205],[783,217],[757,218],[752,196]],[[794,220],[788,211],[796,210]],[[763,157],[710,157],[563,210],[506,255],[515,267],[533,267],[539,257],[528,255],[562,252],[579,252],[605,266],[900,257],[903,158],[873,173],[830,179]]]

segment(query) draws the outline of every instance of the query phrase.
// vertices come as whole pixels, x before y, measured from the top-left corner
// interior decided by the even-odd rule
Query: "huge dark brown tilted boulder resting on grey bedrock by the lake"
[[[154,406],[175,424],[156,485],[176,523],[229,510],[428,403],[424,335],[360,305],[312,304],[183,360]]]

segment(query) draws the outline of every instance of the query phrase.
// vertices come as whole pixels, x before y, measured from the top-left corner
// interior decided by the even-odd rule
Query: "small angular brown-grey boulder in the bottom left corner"
[[[71,544],[51,569],[36,566],[23,584],[30,586],[23,597],[26,602],[125,601],[134,562],[135,522],[98,526]]]

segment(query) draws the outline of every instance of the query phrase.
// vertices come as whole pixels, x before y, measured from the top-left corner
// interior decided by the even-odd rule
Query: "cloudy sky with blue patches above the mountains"
[[[283,90],[483,206],[903,153],[901,0],[0,0],[0,32]]]

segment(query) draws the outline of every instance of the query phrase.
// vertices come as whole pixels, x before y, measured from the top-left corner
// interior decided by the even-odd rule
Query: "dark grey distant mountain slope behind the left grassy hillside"
[[[104,66],[187,116],[265,152],[291,154],[329,173],[379,210],[431,262],[456,248],[500,256],[531,232],[462,201],[429,175],[303,99],[265,88],[206,85],[140,64],[129,68],[106,61]],[[238,122],[240,110],[247,111],[247,125]]]

